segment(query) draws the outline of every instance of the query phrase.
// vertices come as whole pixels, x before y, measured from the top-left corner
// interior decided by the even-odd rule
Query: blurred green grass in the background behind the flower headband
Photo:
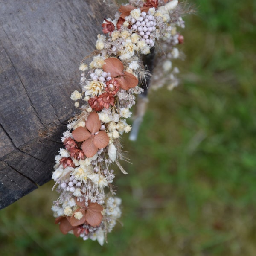
[[[256,2],[190,0],[181,84],[150,94],[108,244],[62,235],[47,183],[0,211],[3,256],[256,255]]]

